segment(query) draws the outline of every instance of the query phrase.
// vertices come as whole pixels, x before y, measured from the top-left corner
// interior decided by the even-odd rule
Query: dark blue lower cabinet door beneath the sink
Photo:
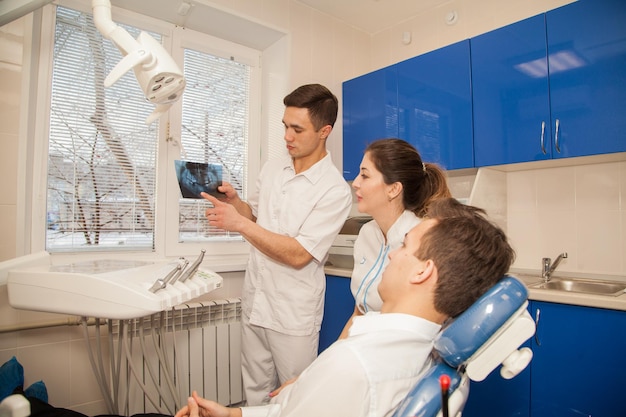
[[[626,312],[533,301],[531,417],[622,417]]]

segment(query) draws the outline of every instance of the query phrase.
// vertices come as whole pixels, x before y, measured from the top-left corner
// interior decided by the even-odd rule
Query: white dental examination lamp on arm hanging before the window
[[[98,31],[117,46],[122,60],[105,78],[104,86],[115,84],[131,69],[143,94],[156,108],[146,119],[150,124],[161,117],[183,94],[185,78],[165,48],[146,32],[137,39],[111,20],[111,2],[92,0],[93,20]]]

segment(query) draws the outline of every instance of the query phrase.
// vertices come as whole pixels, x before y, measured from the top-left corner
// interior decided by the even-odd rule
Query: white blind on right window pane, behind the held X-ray
[[[192,49],[184,50],[187,87],[183,95],[181,157],[220,165],[223,180],[245,198],[248,155],[248,65]],[[179,241],[237,239],[210,227],[205,200],[180,199]]]

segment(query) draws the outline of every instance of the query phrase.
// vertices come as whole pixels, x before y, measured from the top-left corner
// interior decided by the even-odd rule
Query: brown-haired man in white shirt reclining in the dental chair
[[[175,417],[392,415],[429,368],[442,324],[496,284],[514,252],[482,210],[442,199],[389,259],[380,313],[355,318],[270,404],[227,408],[194,392]]]

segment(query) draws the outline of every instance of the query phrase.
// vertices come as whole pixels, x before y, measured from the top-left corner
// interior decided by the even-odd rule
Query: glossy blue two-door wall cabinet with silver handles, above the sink
[[[476,166],[626,151],[624,21],[579,0],[472,38]]]

